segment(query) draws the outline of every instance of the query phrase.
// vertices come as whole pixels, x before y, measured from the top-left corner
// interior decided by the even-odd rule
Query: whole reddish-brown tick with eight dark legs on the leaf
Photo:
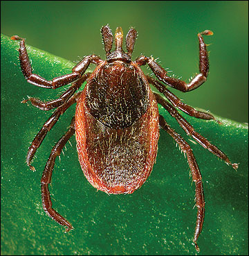
[[[199,74],[194,76],[190,83],[168,76],[167,71],[160,67],[154,58],[140,56],[132,61],[131,54],[137,36],[134,28],[131,28],[127,33],[125,40],[127,52],[122,50],[122,28],[116,29],[115,49],[113,51],[111,51],[113,35],[109,26],[103,26],[101,33],[107,60],[102,60],[95,55],[86,56],[73,67],[71,74],[59,76],[53,80],[46,80],[33,74],[24,38],[17,35],[11,37],[12,40],[20,40],[21,71],[28,83],[56,89],[73,82],[66,92],[53,101],[42,102],[31,97],[22,101],[22,103],[30,101],[32,105],[41,110],[56,108],[28,148],[26,163],[31,170],[35,171],[31,162],[48,131],[53,128],[61,114],[73,103],[77,103],[71,126],[53,147],[42,174],[41,187],[44,211],[57,223],[66,226],[66,231],[73,228],[71,223],[53,209],[48,184],[51,181],[56,157],[74,133],[80,165],[84,176],[91,185],[107,194],[131,194],[142,186],[153,169],[158,150],[160,126],[173,137],[183,153],[187,155],[187,162],[191,169],[196,191],[197,219],[193,241],[196,250],[199,251],[197,239],[203,227],[205,211],[201,172],[190,145],[158,114],[157,104],[163,105],[165,110],[178,121],[187,135],[192,136],[196,142],[204,148],[208,148],[210,152],[227,164],[231,164],[234,169],[238,168],[238,165],[232,164],[219,148],[196,133],[176,108],[199,119],[214,119],[212,114],[197,111],[182,103],[164,85],[188,92],[205,82],[208,77],[209,64],[208,51],[202,35],[212,35],[212,31],[206,30],[198,33]],[[92,73],[85,74],[91,63],[97,67]],[[146,64],[149,65],[156,78],[164,84],[142,72],[140,66]],[[85,81],[87,83],[83,91],[76,92]],[[149,84],[154,85],[159,92],[163,93],[168,101],[160,94],[152,92]]]

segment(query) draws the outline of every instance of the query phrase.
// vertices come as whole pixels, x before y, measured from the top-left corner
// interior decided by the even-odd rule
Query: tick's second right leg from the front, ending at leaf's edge
[[[208,120],[214,119],[214,116],[212,114],[195,110],[190,105],[182,103],[181,100],[178,97],[176,97],[176,95],[172,94],[172,92],[170,92],[169,89],[165,87],[165,85],[158,82],[156,79],[151,78],[150,76],[146,77],[149,83],[151,83],[151,85],[154,85],[154,87],[156,87],[156,89],[158,89],[159,92],[163,93],[163,95],[174,105],[174,107],[182,110],[186,114],[189,114],[191,117]]]

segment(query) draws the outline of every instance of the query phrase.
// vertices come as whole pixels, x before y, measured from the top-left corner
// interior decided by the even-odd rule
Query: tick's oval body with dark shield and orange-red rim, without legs
[[[119,65],[122,67],[120,68]],[[133,99],[130,105],[125,102],[128,101],[127,98],[124,101],[118,101],[121,105],[116,104],[116,110],[115,105],[109,108],[98,97],[98,104],[95,105],[102,104],[105,110],[113,111],[109,114],[116,115],[116,118],[122,117],[118,118],[117,122],[109,118],[107,111],[103,112],[102,109],[93,111],[89,107],[89,99],[93,92],[95,94],[93,87],[97,87],[96,79],[101,79],[100,76],[93,75],[77,101],[75,113],[77,151],[84,175],[93,187],[109,194],[131,194],[147,180],[156,160],[158,107],[154,94],[139,68],[136,70],[139,73],[137,75],[132,70],[137,69],[135,65],[132,68],[128,67],[128,71],[132,70],[130,73],[127,73],[127,67],[124,67],[123,63],[118,62],[115,67],[116,69],[113,69],[114,67],[110,69],[108,65],[104,69],[106,72],[112,71],[109,76],[104,76],[109,77],[109,81],[106,81],[112,88],[107,88],[104,92],[110,96],[108,90],[116,90],[117,94],[123,94],[124,97],[126,95],[131,99],[132,94],[136,94],[136,99]],[[103,66],[100,69],[102,71]],[[128,76],[126,80],[129,80],[130,89],[127,83],[124,84],[126,80],[120,80],[120,77],[124,76]],[[139,89],[133,88],[136,87],[136,80],[142,83]],[[128,92],[130,94],[127,94]],[[107,96],[102,96],[102,99],[107,99]],[[107,101],[112,102],[113,99]],[[132,110],[131,107],[137,109]],[[121,114],[120,111],[122,111]],[[99,118],[100,112],[102,112],[102,118]],[[104,114],[107,118],[103,118]],[[125,116],[127,114],[128,117]]]

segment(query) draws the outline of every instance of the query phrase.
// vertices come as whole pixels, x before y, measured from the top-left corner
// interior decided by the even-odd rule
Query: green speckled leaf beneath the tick
[[[86,181],[77,161],[75,138],[57,160],[50,185],[53,207],[75,230],[64,228],[42,209],[40,179],[50,150],[66,132],[75,106],[50,130],[37,150],[32,172],[25,164],[30,142],[50,117],[28,96],[56,99],[61,89],[26,82],[19,66],[19,42],[1,35],[1,253],[3,255],[193,255],[196,223],[190,168],[176,143],[160,130],[157,162],[151,176],[133,194],[108,196]],[[71,72],[73,63],[27,46],[34,72],[51,79]],[[67,86],[68,87],[68,86]],[[201,93],[201,89],[200,89]],[[195,119],[183,113],[197,132],[225,152],[234,171],[185,135],[161,107],[167,122],[192,146],[203,176],[205,221],[200,255],[248,254],[248,126],[221,117]]]

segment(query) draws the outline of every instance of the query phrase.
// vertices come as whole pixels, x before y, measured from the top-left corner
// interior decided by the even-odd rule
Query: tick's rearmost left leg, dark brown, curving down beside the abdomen
[[[64,217],[55,210],[53,210],[52,202],[50,198],[50,192],[48,190],[48,184],[51,182],[51,177],[53,173],[53,168],[55,165],[55,159],[60,153],[62,152],[62,148],[65,146],[66,142],[68,142],[68,139],[70,139],[73,134],[75,133],[75,117],[73,117],[71,121],[70,128],[68,131],[59,139],[57,144],[53,147],[50,156],[48,157],[48,162],[46,163],[44,172],[42,173],[42,180],[41,180],[41,187],[42,187],[42,206],[44,208],[44,211],[50,218],[55,220],[60,225],[65,225],[66,232],[73,229],[73,226],[64,219]]]

